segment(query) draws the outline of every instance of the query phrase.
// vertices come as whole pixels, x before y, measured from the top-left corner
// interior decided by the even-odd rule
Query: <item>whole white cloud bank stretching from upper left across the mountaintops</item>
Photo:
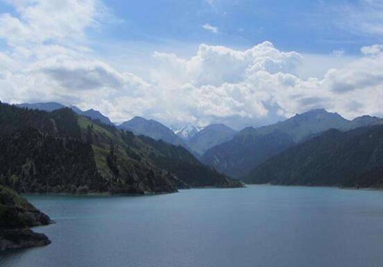
[[[172,124],[223,122],[240,129],[326,108],[347,118],[382,115],[383,49],[323,77],[303,78],[305,58],[271,42],[250,49],[201,44],[182,58],[154,52],[158,67],[146,79],[97,58],[87,32],[111,14],[99,1],[12,1],[17,15],[0,15],[0,100],[57,101],[96,108],[114,122],[135,115]],[[58,8],[60,6],[60,8]],[[42,14],[51,14],[51,19]],[[44,19],[42,19],[42,17]]]

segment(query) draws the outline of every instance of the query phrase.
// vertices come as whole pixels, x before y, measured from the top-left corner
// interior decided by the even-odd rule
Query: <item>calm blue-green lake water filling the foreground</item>
[[[147,197],[27,196],[52,244],[0,266],[383,266],[383,192],[250,186]]]

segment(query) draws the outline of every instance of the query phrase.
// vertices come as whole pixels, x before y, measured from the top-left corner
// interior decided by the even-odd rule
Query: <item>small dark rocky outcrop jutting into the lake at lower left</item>
[[[10,188],[0,186],[0,251],[29,248],[51,243],[44,234],[29,227],[53,221]]]

